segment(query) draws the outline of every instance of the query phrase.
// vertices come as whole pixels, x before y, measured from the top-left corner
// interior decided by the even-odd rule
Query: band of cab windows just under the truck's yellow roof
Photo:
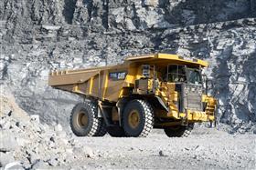
[[[185,65],[168,65],[165,80],[168,82],[186,82],[188,84],[201,85],[202,78],[199,69],[186,68]]]

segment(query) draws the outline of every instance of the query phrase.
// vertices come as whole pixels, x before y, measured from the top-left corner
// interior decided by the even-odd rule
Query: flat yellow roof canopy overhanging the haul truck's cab
[[[129,56],[125,59],[126,61],[131,62],[144,62],[144,61],[173,61],[174,63],[181,64],[181,65],[201,65],[202,67],[207,67],[208,62],[197,59],[197,58],[189,58],[179,55],[171,55],[171,54],[164,54],[164,53],[156,53],[156,54],[149,54],[149,55],[137,55],[137,56]]]

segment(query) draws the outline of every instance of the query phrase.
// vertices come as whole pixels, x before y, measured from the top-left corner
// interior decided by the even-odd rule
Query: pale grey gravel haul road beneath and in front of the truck
[[[147,138],[77,138],[94,151],[83,168],[255,169],[256,135],[198,129],[187,138],[153,133]]]

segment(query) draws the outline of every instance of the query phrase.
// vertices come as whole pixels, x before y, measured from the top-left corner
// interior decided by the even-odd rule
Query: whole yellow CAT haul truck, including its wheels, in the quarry
[[[163,128],[187,136],[197,122],[215,121],[217,100],[206,95],[208,63],[178,55],[128,57],[122,65],[52,71],[48,84],[80,95],[70,126],[78,136],[146,136]]]

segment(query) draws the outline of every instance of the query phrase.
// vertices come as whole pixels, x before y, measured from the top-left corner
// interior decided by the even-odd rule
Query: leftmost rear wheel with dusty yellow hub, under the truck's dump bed
[[[70,127],[77,136],[93,136],[99,129],[97,105],[80,103],[74,106],[70,116]]]

